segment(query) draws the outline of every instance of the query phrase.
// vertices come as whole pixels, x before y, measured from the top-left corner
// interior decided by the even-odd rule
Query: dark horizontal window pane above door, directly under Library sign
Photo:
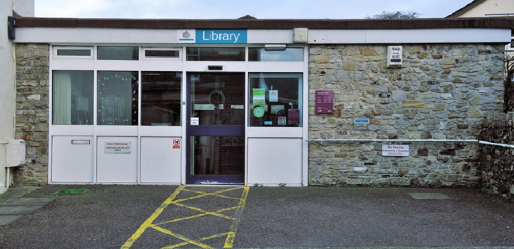
[[[187,61],[244,61],[245,48],[186,48]]]

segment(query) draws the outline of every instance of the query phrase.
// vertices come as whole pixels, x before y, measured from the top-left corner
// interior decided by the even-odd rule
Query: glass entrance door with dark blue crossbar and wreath
[[[186,184],[244,184],[245,74],[188,73]]]

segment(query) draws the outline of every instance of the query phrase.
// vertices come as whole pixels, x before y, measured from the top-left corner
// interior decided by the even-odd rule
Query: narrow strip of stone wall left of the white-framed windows
[[[16,44],[16,130],[25,140],[26,163],[15,181],[48,182],[48,51],[47,44]]]

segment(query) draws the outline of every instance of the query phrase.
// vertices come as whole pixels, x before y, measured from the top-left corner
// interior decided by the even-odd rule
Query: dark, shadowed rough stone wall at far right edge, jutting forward
[[[480,140],[512,144],[514,142],[513,114],[496,113],[484,121]],[[514,148],[480,145],[481,183],[484,189],[514,198]]]

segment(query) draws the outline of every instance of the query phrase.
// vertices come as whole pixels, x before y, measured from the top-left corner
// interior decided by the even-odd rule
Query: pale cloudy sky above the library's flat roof
[[[444,18],[472,0],[34,0],[36,17],[361,19],[386,12]]]

